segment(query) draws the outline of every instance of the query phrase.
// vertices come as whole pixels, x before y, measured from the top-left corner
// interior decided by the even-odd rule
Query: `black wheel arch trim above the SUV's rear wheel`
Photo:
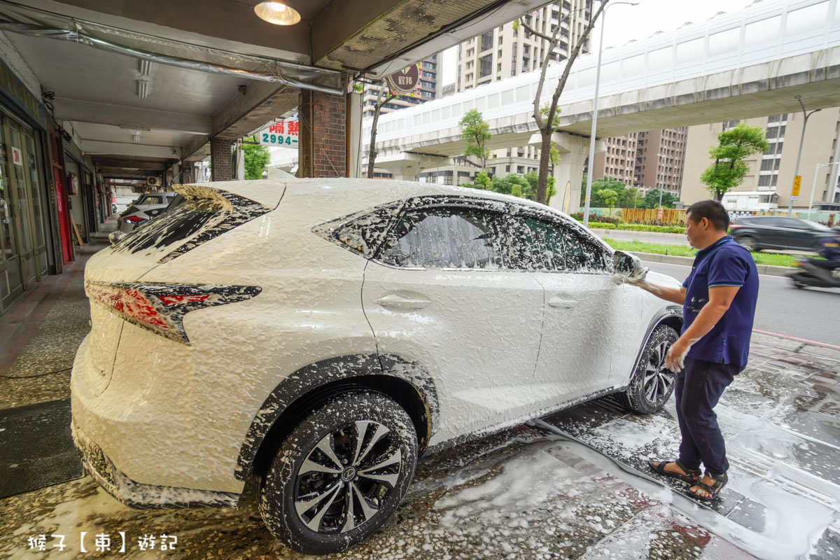
[[[398,356],[345,355],[298,369],[271,391],[239,449],[236,479],[246,481],[260,467],[265,460],[264,443],[279,447],[290,428],[281,420],[293,420],[324,400],[352,390],[376,390],[406,408],[417,430],[418,454],[426,450],[440,415],[438,391],[428,371]]]

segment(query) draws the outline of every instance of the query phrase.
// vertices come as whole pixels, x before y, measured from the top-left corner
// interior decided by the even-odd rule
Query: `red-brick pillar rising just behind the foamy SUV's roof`
[[[299,177],[346,177],[347,102],[342,96],[303,90]]]

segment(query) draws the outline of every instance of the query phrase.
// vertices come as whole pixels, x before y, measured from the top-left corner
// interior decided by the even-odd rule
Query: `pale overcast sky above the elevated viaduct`
[[[685,22],[699,23],[718,12],[738,12],[753,0],[633,0],[638,6],[607,8],[604,48],[618,47],[633,39],[646,39],[657,31],[673,31]],[[616,0],[612,0],[615,3]],[[601,37],[601,22],[592,29],[592,43]],[[443,85],[455,81],[456,47],[444,51]]]

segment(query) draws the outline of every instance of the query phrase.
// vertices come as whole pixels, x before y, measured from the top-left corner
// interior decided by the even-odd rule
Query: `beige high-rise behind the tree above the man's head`
[[[744,122],[748,126],[761,127],[770,146],[764,154],[754,154],[745,160],[749,170],[743,184],[724,195],[723,205],[734,211],[787,210],[804,122],[802,113],[748,118]],[[719,143],[717,134],[738,123],[727,121],[689,127],[681,196],[686,206],[711,197],[700,181],[703,171],[711,165],[709,148]],[[801,212],[807,209],[811,201],[811,186],[816,187],[813,190],[815,208],[829,209],[829,205],[833,204],[840,209],[837,173],[840,165],[825,165],[840,161],[838,130],[840,107],[822,109],[808,119],[799,166],[801,190],[799,198],[793,202],[795,210]],[[821,167],[817,170],[818,164]]]

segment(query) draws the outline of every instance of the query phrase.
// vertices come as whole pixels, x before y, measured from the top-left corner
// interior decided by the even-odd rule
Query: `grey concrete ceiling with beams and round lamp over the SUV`
[[[287,0],[302,17],[291,26],[257,18],[257,3],[0,0],[0,27],[55,92],[55,117],[76,129],[81,148],[124,171],[131,160],[146,169],[199,159],[208,139],[239,138],[297,107],[301,87],[343,92],[342,76],[391,74],[546,2]],[[81,44],[88,38],[112,46]],[[152,63],[144,69],[123,47]]]

